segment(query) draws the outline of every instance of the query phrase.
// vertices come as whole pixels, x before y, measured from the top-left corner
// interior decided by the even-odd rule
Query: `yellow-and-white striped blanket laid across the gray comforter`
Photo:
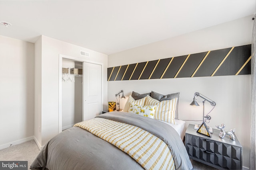
[[[146,170],[175,169],[172,154],[166,143],[139,127],[98,117],[74,126],[86,129],[118,147]]]

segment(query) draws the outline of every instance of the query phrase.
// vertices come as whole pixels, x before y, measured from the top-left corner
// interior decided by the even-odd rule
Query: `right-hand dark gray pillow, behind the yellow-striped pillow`
[[[153,99],[164,101],[164,100],[172,100],[174,98],[178,98],[177,100],[177,104],[176,104],[176,109],[175,109],[175,119],[179,118],[179,113],[178,113],[178,107],[179,107],[179,98],[180,98],[180,93],[172,93],[172,94],[167,94],[167,95],[163,95],[157,92],[151,92],[151,97]]]

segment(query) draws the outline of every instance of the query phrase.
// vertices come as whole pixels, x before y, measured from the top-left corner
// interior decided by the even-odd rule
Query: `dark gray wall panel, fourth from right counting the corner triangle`
[[[180,70],[177,78],[180,77],[191,77],[198,65],[201,63],[201,61],[204,59],[204,56],[207,54],[207,52],[203,53],[196,53],[190,55],[188,57],[188,60]]]

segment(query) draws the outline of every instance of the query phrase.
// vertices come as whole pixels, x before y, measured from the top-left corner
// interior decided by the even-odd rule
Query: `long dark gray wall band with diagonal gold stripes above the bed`
[[[251,45],[108,68],[108,81],[251,74]]]

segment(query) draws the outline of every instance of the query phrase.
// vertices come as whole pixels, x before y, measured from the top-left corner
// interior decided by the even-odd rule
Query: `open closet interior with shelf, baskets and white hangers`
[[[70,74],[73,73],[72,68],[79,69],[79,74],[77,69],[75,74]],[[62,131],[83,119],[82,68],[83,62],[62,59]]]

